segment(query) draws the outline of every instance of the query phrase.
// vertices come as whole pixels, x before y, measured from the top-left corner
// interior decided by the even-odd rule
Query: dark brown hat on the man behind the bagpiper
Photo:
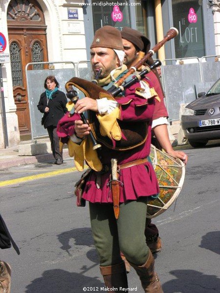
[[[121,31],[121,37],[132,42],[140,51],[147,53],[150,50],[150,40],[135,29],[125,26]]]

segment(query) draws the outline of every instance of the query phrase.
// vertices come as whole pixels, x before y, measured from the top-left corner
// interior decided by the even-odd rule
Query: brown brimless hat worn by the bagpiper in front
[[[124,51],[120,31],[110,25],[105,25],[97,29],[90,49],[97,47]]]

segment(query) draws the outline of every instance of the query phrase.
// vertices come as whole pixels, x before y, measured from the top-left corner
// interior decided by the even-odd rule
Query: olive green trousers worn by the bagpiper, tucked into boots
[[[112,204],[89,203],[89,211],[100,266],[120,263],[120,251],[132,264],[140,266],[146,262],[149,256],[144,234],[147,197],[120,204],[118,220]]]

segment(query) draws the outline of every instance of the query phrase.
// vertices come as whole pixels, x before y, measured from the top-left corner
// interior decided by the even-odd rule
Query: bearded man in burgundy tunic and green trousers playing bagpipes
[[[89,202],[92,235],[106,286],[118,291],[128,288],[122,251],[144,292],[163,293],[144,234],[147,200],[159,192],[154,167],[147,159],[158,97],[150,81],[145,88],[135,82],[116,98],[104,90],[127,72],[119,30],[111,26],[98,29],[90,48],[94,73],[102,69],[101,87],[96,86],[97,93],[91,83],[70,80],[69,84],[92,94],[78,100],[74,113],[70,109],[60,120],[58,135],[67,142],[76,167],[83,170],[84,160],[90,167],[83,176],[82,198]],[[86,110],[89,125],[80,116]],[[93,150],[90,132],[101,148]]]

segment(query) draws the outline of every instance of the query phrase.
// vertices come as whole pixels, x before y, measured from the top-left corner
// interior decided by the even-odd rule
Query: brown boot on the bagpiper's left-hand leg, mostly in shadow
[[[125,268],[125,262],[108,267],[100,267],[101,274],[103,275],[105,285],[111,291],[119,291],[121,288],[128,288],[128,279]]]

